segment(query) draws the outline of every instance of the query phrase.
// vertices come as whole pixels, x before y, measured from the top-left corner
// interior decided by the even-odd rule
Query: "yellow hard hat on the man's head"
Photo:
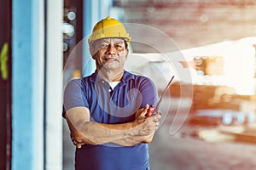
[[[122,37],[125,38],[127,44],[129,44],[131,40],[129,33],[125,30],[125,26],[119,22],[119,20],[115,20],[110,17],[96,23],[88,42],[90,44],[91,42],[106,37]]]

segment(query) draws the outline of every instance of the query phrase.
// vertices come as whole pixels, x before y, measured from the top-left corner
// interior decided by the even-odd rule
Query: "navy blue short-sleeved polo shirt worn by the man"
[[[90,110],[90,121],[125,123],[134,121],[139,108],[156,102],[154,83],[147,77],[124,71],[121,81],[112,89],[95,72],[67,84],[63,114],[73,107],[84,106]],[[146,170],[149,169],[148,144],[129,147],[84,144],[76,150],[75,167],[76,170]]]

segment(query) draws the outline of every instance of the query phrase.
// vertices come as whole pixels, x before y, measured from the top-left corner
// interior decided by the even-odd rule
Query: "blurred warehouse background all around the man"
[[[255,0],[1,0],[0,169],[72,170],[62,92],[95,64],[87,40],[113,17],[125,69],[164,94],[151,169],[255,169]]]

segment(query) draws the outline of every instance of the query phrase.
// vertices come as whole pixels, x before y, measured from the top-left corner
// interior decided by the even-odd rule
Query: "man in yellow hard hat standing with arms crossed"
[[[130,36],[110,17],[89,38],[96,71],[67,84],[63,116],[76,145],[76,170],[149,169],[148,143],[160,113],[147,116],[157,93],[147,77],[124,71]]]

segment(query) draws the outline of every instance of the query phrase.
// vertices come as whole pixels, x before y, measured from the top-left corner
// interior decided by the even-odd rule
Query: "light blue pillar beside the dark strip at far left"
[[[12,1],[12,169],[44,169],[44,1]]]

